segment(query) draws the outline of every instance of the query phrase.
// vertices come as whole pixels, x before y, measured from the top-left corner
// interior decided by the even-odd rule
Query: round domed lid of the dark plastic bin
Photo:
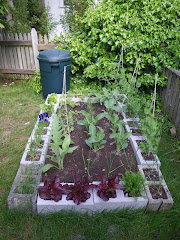
[[[72,56],[66,50],[48,49],[40,52],[37,58],[44,62],[61,62],[63,60],[70,60]]]

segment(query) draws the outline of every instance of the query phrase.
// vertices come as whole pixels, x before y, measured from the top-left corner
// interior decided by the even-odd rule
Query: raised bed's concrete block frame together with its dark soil
[[[77,103],[76,107],[73,109],[73,111],[80,112],[82,109],[86,110],[88,97],[85,97],[84,99],[81,98],[71,98],[71,101],[74,101]],[[58,95],[58,101],[57,104],[54,105],[54,113],[58,113],[59,105],[60,105],[60,95]],[[47,104],[47,101],[46,101]],[[120,103],[118,105],[121,105]],[[122,106],[122,105],[121,105]],[[58,110],[59,109],[59,110]],[[71,107],[69,107],[70,111]],[[97,116],[100,113],[105,112],[106,109],[99,103],[93,104],[93,114],[94,116]],[[70,184],[73,180],[72,176],[69,174],[70,170],[76,169],[77,175],[82,180],[84,176],[88,175],[89,182],[97,181],[96,174],[101,174],[102,176],[106,178],[111,178],[115,175],[119,176],[120,179],[124,175],[126,170],[130,170],[132,172],[137,172],[138,167],[143,165],[145,166],[147,163],[151,166],[160,166],[160,161],[157,158],[157,155],[153,153],[153,156],[155,156],[155,159],[146,161],[142,156],[142,150],[138,149],[137,141],[140,140],[146,140],[142,136],[133,136],[128,135],[128,138],[126,139],[127,148],[124,150],[118,151],[118,154],[116,153],[116,144],[114,138],[109,138],[109,136],[112,134],[112,126],[107,118],[101,118],[98,120],[98,126],[101,127],[104,131],[104,140],[106,141],[104,143],[104,148],[93,151],[90,150],[87,144],[85,143],[86,139],[88,138],[87,129],[85,126],[78,124],[76,121],[74,122],[74,131],[71,132],[70,136],[71,139],[74,142],[74,145],[72,146],[78,146],[78,148],[73,151],[71,154],[67,154],[64,158],[64,168],[61,170],[58,170],[56,168],[51,168],[46,173],[42,174],[42,167],[46,164],[52,164],[52,160],[50,156],[53,156],[52,149],[49,148],[51,145],[52,140],[50,138],[50,130],[52,128],[52,119],[54,116],[54,113],[49,118],[49,126],[45,127],[42,134],[42,140],[43,140],[43,146],[41,149],[38,149],[38,151],[41,152],[40,160],[34,160],[34,159],[26,159],[28,155],[29,146],[32,142],[32,139],[34,139],[35,132],[37,129],[37,125],[39,123],[39,119],[37,120],[37,123],[35,125],[35,128],[32,132],[32,135],[28,141],[28,144],[26,146],[25,152],[23,154],[23,157],[21,159],[20,163],[20,169],[18,171],[18,174],[28,176],[26,171],[31,171],[31,175],[40,176],[42,180],[45,180],[48,176],[50,179],[54,179],[55,176],[59,176],[60,180],[64,184]],[[42,114],[42,112],[40,112]],[[82,114],[77,114],[75,116],[78,121],[83,120]],[[119,121],[123,120],[124,122],[132,122],[139,121],[138,118],[136,119],[127,119],[125,113],[121,112],[118,113]],[[131,131],[131,127],[129,125],[123,125],[123,129],[126,130],[126,132]],[[46,131],[46,132],[45,132]],[[124,130],[123,130],[124,131]],[[125,132],[125,131],[124,131]],[[48,155],[48,156],[47,156]],[[113,161],[112,161],[113,160]],[[89,165],[88,165],[89,164]],[[58,166],[55,164],[56,167]],[[89,166],[89,167],[88,167]],[[145,177],[145,173],[143,172],[142,175]],[[32,210],[35,212],[37,207],[38,213],[46,213],[46,212],[54,212],[59,211],[61,209],[74,209],[77,211],[102,211],[104,209],[106,210],[112,210],[115,208],[121,209],[124,207],[128,208],[148,208],[149,210],[158,210],[161,208],[161,210],[166,209],[165,206],[168,205],[167,201],[162,201],[159,199],[155,202],[152,202],[152,196],[150,193],[150,189],[145,187],[146,193],[148,194],[148,198],[146,197],[146,193],[143,192],[143,189],[141,191],[141,196],[138,196],[136,198],[128,196],[128,194],[125,194],[123,190],[116,190],[117,198],[110,198],[109,201],[104,202],[101,198],[97,196],[97,192],[95,189],[89,189],[88,191],[91,193],[91,197],[87,199],[85,203],[81,203],[79,205],[75,205],[72,200],[67,201],[66,196],[62,196],[62,200],[59,202],[54,202],[53,200],[43,200],[40,199],[39,196],[37,196],[37,187],[40,183],[40,178],[36,180],[36,183],[33,183],[33,186],[36,186],[34,194],[30,194],[28,199],[32,202]],[[37,179],[37,178],[36,178]],[[16,177],[15,182],[18,181],[18,178]],[[148,181],[148,180],[146,180]],[[163,180],[164,181],[164,180]],[[16,183],[14,183],[16,184]],[[164,184],[164,182],[163,182]],[[43,185],[43,183],[41,183]],[[164,186],[164,185],[163,185]],[[15,187],[13,185],[10,195],[8,197],[8,205],[10,208],[17,208],[20,207],[21,200],[18,199],[18,194],[21,198],[20,193],[16,193],[14,191]],[[17,189],[17,186],[16,186]],[[166,191],[167,188],[165,188]],[[167,192],[166,192],[167,194]],[[170,194],[170,193],[168,193]],[[27,196],[27,194],[25,194]],[[169,195],[167,195],[169,196]],[[15,199],[15,200],[12,200]],[[149,199],[149,200],[148,200]],[[167,200],[167,199],[166,199]],[[154,200],[153,200],[154,201]],[[36,205],[37,202],[37,205]],[[160,202],[160,204],[159,204]],[[162,203],[163,202],[163,203]],[[156,207],[151,207],[152,205]],[[23,205],[25,206],[25,204]],[[164,207],[163,207],[164,206]],[[168,207],[170,208],[172,206],[169,204]]]

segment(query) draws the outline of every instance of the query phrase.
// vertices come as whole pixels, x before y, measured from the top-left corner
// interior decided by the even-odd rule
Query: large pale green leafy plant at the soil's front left
[[[42,171],[43,173],[47,172],[50,168],[55,167],[59,170],[63,169],[63,163],[64,163],[64,158],[67,153],[72,153],[74,150],[78,148],[78,146],[70,147],[71,144],[71,139],[69,135],[66,135],[64,140],[62,140],[62,148],[60,146],[57,146],[54,143],[50,143],[50,147],[55,154],[55,157],[52,156],[51,160],[58,164],[58,167],[54,164],[46,164],[43,168]]]

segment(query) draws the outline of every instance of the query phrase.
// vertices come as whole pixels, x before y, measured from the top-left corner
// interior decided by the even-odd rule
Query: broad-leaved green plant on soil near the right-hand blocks
[[[130,136],[131,132],[125,133],[123,126],[119,124],[118,132],[112,133],[109,137],[115,139],[117,152],[119,152],[121,149],[127,148],[126,139]]]

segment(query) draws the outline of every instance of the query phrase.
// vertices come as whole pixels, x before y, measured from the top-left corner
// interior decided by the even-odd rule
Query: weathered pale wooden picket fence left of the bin
[[[39,51],[56,48],[46,35],[30,33],[7,34],[0,29],[0,78],[24,79],[39,67]]]

